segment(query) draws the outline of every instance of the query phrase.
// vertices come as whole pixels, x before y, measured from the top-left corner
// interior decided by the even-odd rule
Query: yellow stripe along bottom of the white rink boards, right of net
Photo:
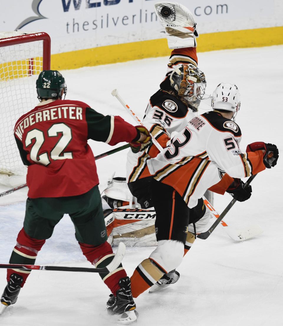
[[[283,26],[202,34],[197,52],[283,44]],[[51,69],[74,69],[143,58],[170,56],[165,38],[51,55]]]

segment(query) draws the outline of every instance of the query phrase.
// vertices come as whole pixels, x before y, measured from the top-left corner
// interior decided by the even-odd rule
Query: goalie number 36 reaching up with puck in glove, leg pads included
[[[160,89],[149,99],[143,124],[165,148],[171,136],[197,116],[200,101],[205,96],[206,78],[197,67],[198,33],[191,12],[175,2],[155,3],[155,12],[165,30],[168,47],[172,52]],[[181,81],[178,74],[182,73],[183,76],[188,75],[189,79]],[[187,87],[190,87],[190,92],[181,94]],[[109,180],[102,203],[104,202],[103,208],[106,209],[104,217],[110,243],[124,241],[127,245],[157,245],[155,211],[150,198],[151,175],[146,167],[146,159],[155,157],[158,153],[155,145],[140,153],[129,151],[127,177]],[[223,181],[227,184],[225,187],[232,181],[226,175]],[[212,202],[211,191],[205,197]],[[204,219],[207,221],[209,217],[207,212]],[[189,249],[190,244],[187,247]]]

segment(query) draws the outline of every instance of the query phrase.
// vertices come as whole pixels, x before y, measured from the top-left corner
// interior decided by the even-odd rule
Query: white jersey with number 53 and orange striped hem
[[[265,169],[262,151],[241,152],[241,136],[235,122],[220,113],[206,112],[191,119],[162,153],[147,159],[148,170],[193,208],[225,172],[244,178]]]

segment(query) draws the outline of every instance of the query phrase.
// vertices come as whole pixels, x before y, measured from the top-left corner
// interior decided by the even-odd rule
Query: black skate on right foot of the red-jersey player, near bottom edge
[[[131,281],[129,277],[121,278],[119,281],[120,290],[117,290],[116,296],[110,294],[106,303],[107,312],[111,315],[121,315],[118,322],[121,324],[129,324],[136,321],[138,313],[136,312],[136,304],[132,297]]]

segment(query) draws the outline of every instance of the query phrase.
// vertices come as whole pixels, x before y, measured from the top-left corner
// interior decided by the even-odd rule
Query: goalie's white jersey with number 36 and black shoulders
[[[160,90],[151,96],[142,121],[162,147],[166,147],[173,132],[181,131],[196,115],[188,105],[166,92],[171,89],[170,73],[182,64],[193,64],[197,67],[196,48],[175,49],[171,52],[166,76],[160,84]],[[146,159],[149,156],[155,157],[158,153],[155,145],[138,154],[129,151],[126,164],[127,182],[150,176],[145,172]]]

